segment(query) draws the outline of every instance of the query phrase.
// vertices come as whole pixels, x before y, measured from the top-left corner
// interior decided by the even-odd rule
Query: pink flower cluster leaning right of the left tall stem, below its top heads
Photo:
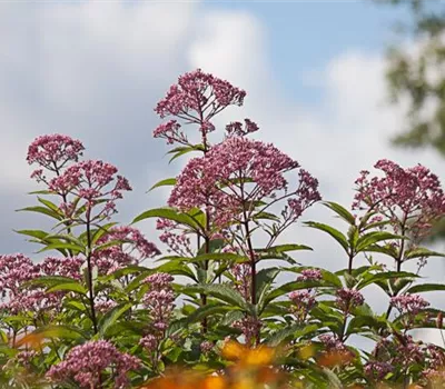
[[[144,259],[158,256],[160,251],[136,228],[129,226],[112,227],[97,245],[116,241],[116,245],[93,252],[92,259],[99,273],[108,275],[128,265],[137,265]]]

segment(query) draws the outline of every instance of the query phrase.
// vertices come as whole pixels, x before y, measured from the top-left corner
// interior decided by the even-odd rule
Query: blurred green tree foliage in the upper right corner
[[[380,0],[411,7],[413,19],[404,31],[413,47],[393,47],[388,52],[387,81],[394,102],[408,103],[407,123],[393,141],[396,146],[432,147],[445,157],[445,2]]]

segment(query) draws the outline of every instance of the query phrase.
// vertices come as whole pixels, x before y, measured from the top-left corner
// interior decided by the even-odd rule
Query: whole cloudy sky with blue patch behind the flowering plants
[[[380,158],[421,162],[444,181],[443,160],[433,152],[388,144],[404,119],[387,106],[383,31],[400,16],[358,0],[0,2],[1,252],[36,250],[11,229],[41,223],[14,209],[33,203],[24,194],[36,189],[24,157],[42,133],[81,139],[87,158],[129,178],[134,192],[120,205],[121,221],[164,205],[167,191],[145,191],[181,164],[168,166],[167,147],[152,139],[159,123],[152,108],[178,74],[196,68],[248,91],[245,108],[219,124],[251,118],[261,129],[256,138],[313,172],[325,199],[350,203],[358,171]],[[320,206],[304,219],[336,222]],[[141,228],[157,241],[154,221]],[[322,232],[298,227],[287,238],[315,247],[298,257],[304,263],[346,265]],[[443,281],[441,259],[426,273],[428,282]]]

